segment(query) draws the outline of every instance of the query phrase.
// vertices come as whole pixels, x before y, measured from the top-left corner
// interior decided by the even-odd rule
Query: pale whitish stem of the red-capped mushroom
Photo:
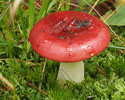
[[[80,83],[84,80],[84,63],[83,61],[75,63],[60,63],[57,80],[65,80]]]

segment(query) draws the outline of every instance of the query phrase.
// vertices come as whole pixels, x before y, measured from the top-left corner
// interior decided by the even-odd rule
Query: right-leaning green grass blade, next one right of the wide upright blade
[[[46,15],[46,11],[48,9],[49,3],[50,3],[50,0],[44,0],[43,1],[40,12],[39,12],[39,15],[37,17],[37,21],[40,20],[42,17],[44,17]]]

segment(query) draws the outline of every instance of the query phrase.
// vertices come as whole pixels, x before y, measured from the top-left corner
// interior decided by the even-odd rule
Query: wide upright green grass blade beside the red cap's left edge
[[[29,1],[29,31],[32,29],[34,24],[34,13],[35,13],[34,0],[30,0]]]

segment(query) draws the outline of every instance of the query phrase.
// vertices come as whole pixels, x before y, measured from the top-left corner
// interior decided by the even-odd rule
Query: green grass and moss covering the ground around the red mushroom
[[[67,88],[58,86],[59,63],[46,62],[33,51],[28,40],[31,28],[40,18],[70,8],[70,0],[67,4],[63,0],[51,1],[45,0],[41,8],[32,0],[22,3],[14,23],[8,19],[13,1],[9,4],[7,0],[0,1],[0,73],[15,88],[12,91],[0,80],[0,100],[125,100],[125,47],[113,33],[104,52],[84,61],[85,80],[82,83],[67,82]],[[112,27],[123,43],[124,28]]]

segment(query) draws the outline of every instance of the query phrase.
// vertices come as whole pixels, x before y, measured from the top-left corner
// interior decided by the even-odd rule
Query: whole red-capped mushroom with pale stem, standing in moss
[[[58,80],[84,79],[83,60],[101,53],[110,41],[107,26],[84,12],[62,11],[42,18],[29,36],[40,56],[60,63]]]

